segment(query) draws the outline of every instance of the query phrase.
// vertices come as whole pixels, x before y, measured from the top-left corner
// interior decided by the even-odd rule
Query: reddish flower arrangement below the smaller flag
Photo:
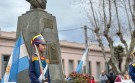
[[[72,83],[88,83],[89,81],[89,75],[88,74],[78,74],[76,72],[72,72],[69,74],[69,77],[71,77]]]

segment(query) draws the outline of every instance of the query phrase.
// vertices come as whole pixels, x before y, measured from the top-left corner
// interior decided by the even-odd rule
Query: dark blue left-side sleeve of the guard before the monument
[[[38,80],[38,78],[35,76],[35,70],[34,70],[34,65],[32,63],[32,60],[30,60],[29,77],[30,77],[31,83],[41,83]]]

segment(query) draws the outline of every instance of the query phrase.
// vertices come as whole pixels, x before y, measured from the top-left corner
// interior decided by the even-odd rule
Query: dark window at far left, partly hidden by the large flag
[[[5,70],[9,61],[9,55],[3,55],[2,56],[2,77],[5,74]]]

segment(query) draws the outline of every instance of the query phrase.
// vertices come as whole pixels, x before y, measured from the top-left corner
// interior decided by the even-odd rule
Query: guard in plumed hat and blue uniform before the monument
[[[41,34],[36,35],[31,40],[37,52],[32,55],[29,66],[29,77],[31,83],[50,83],[49,69],[43,53],[46,51],[46,41]],[[46,73],[44,74],[44,71]]]

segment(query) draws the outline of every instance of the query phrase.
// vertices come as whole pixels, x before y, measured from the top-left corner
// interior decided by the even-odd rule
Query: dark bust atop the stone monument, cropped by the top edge
[[[47,0],[26,0],[31,4],[30,10],[31,9],[46,9],[46,3]]]

